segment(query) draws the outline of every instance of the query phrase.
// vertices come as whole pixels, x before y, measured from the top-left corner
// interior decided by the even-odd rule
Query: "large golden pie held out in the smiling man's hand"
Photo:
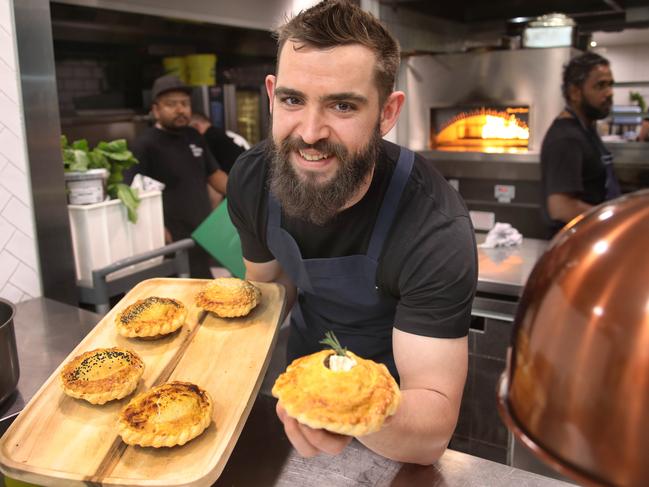
[[[401,392],[385,365],[322,350],[291,363],[272,390],[292,418],[311,428],[362,436],[397,410]]]

